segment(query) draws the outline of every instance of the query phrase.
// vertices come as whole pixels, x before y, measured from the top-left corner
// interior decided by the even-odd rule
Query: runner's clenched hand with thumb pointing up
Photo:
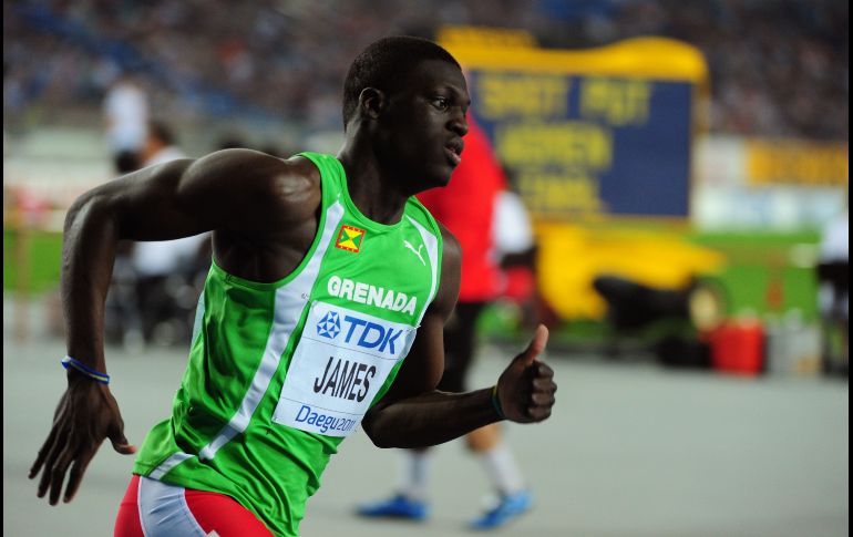
[[[536,358],[548,342],[548,329],[536,328],[531,344],[515,357],[497,380],[497,399],[507,420],[532,423],[546,420],[554,406],[554,370]]]

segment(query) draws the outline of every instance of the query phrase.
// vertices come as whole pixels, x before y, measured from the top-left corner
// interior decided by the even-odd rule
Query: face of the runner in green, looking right
[[[381,157],[412,194],[450,182],[462,158],[470,103],[462,71],[440,60],[421,62],[405,85],[388,95]]]

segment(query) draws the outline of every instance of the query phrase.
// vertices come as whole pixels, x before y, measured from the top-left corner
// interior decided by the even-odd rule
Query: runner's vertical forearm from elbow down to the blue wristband
[[[69,355],[101,372],[106,372],[104,302],[117,241],[117,224],[105,198],[93,193],[78,198],[65,217],[62,245],[65,341]]]

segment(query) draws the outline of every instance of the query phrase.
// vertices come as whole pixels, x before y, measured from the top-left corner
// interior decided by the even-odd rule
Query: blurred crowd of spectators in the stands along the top
[[[543,47],[665,35],[701,49],[718,133],[846,140],[844,0],[13,0],[3,113],[97,106],[123,71],[161,114],[339,127],[354,51],[444,23],[527,30]]]

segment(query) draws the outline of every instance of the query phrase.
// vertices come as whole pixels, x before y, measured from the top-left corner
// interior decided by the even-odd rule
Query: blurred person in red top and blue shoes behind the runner
[[[459,301],[444,327],[444,374],[438,385],[439,390],[453,393],[469,389],[467,374],[475,353],[476,322],[502,287],[494,226],[499,200],[507,186],[485,134],[470,116],[467,123],[465,157],[453,173],[450,185],[418,195],[462,246]],[[504,219],[517,217],[512,207],[508,210],[503,207],[503,210]],[[515,249],[518,248],[514,244],[517,241],[512,239],[503,246]],[[496,528],[530,509],[531,493],[510,446],[501,436],[499,425],[494,423],[472,431],[465,436],[465,443],[480,459],[497,494],[495,505],[471,520],[471,526],[476,529]],[[403,452],[400,486],[395,495],[388,500],[363,505],[358,514],[364,517],[424,519],[428,516],[431,459],[429,448]]]

